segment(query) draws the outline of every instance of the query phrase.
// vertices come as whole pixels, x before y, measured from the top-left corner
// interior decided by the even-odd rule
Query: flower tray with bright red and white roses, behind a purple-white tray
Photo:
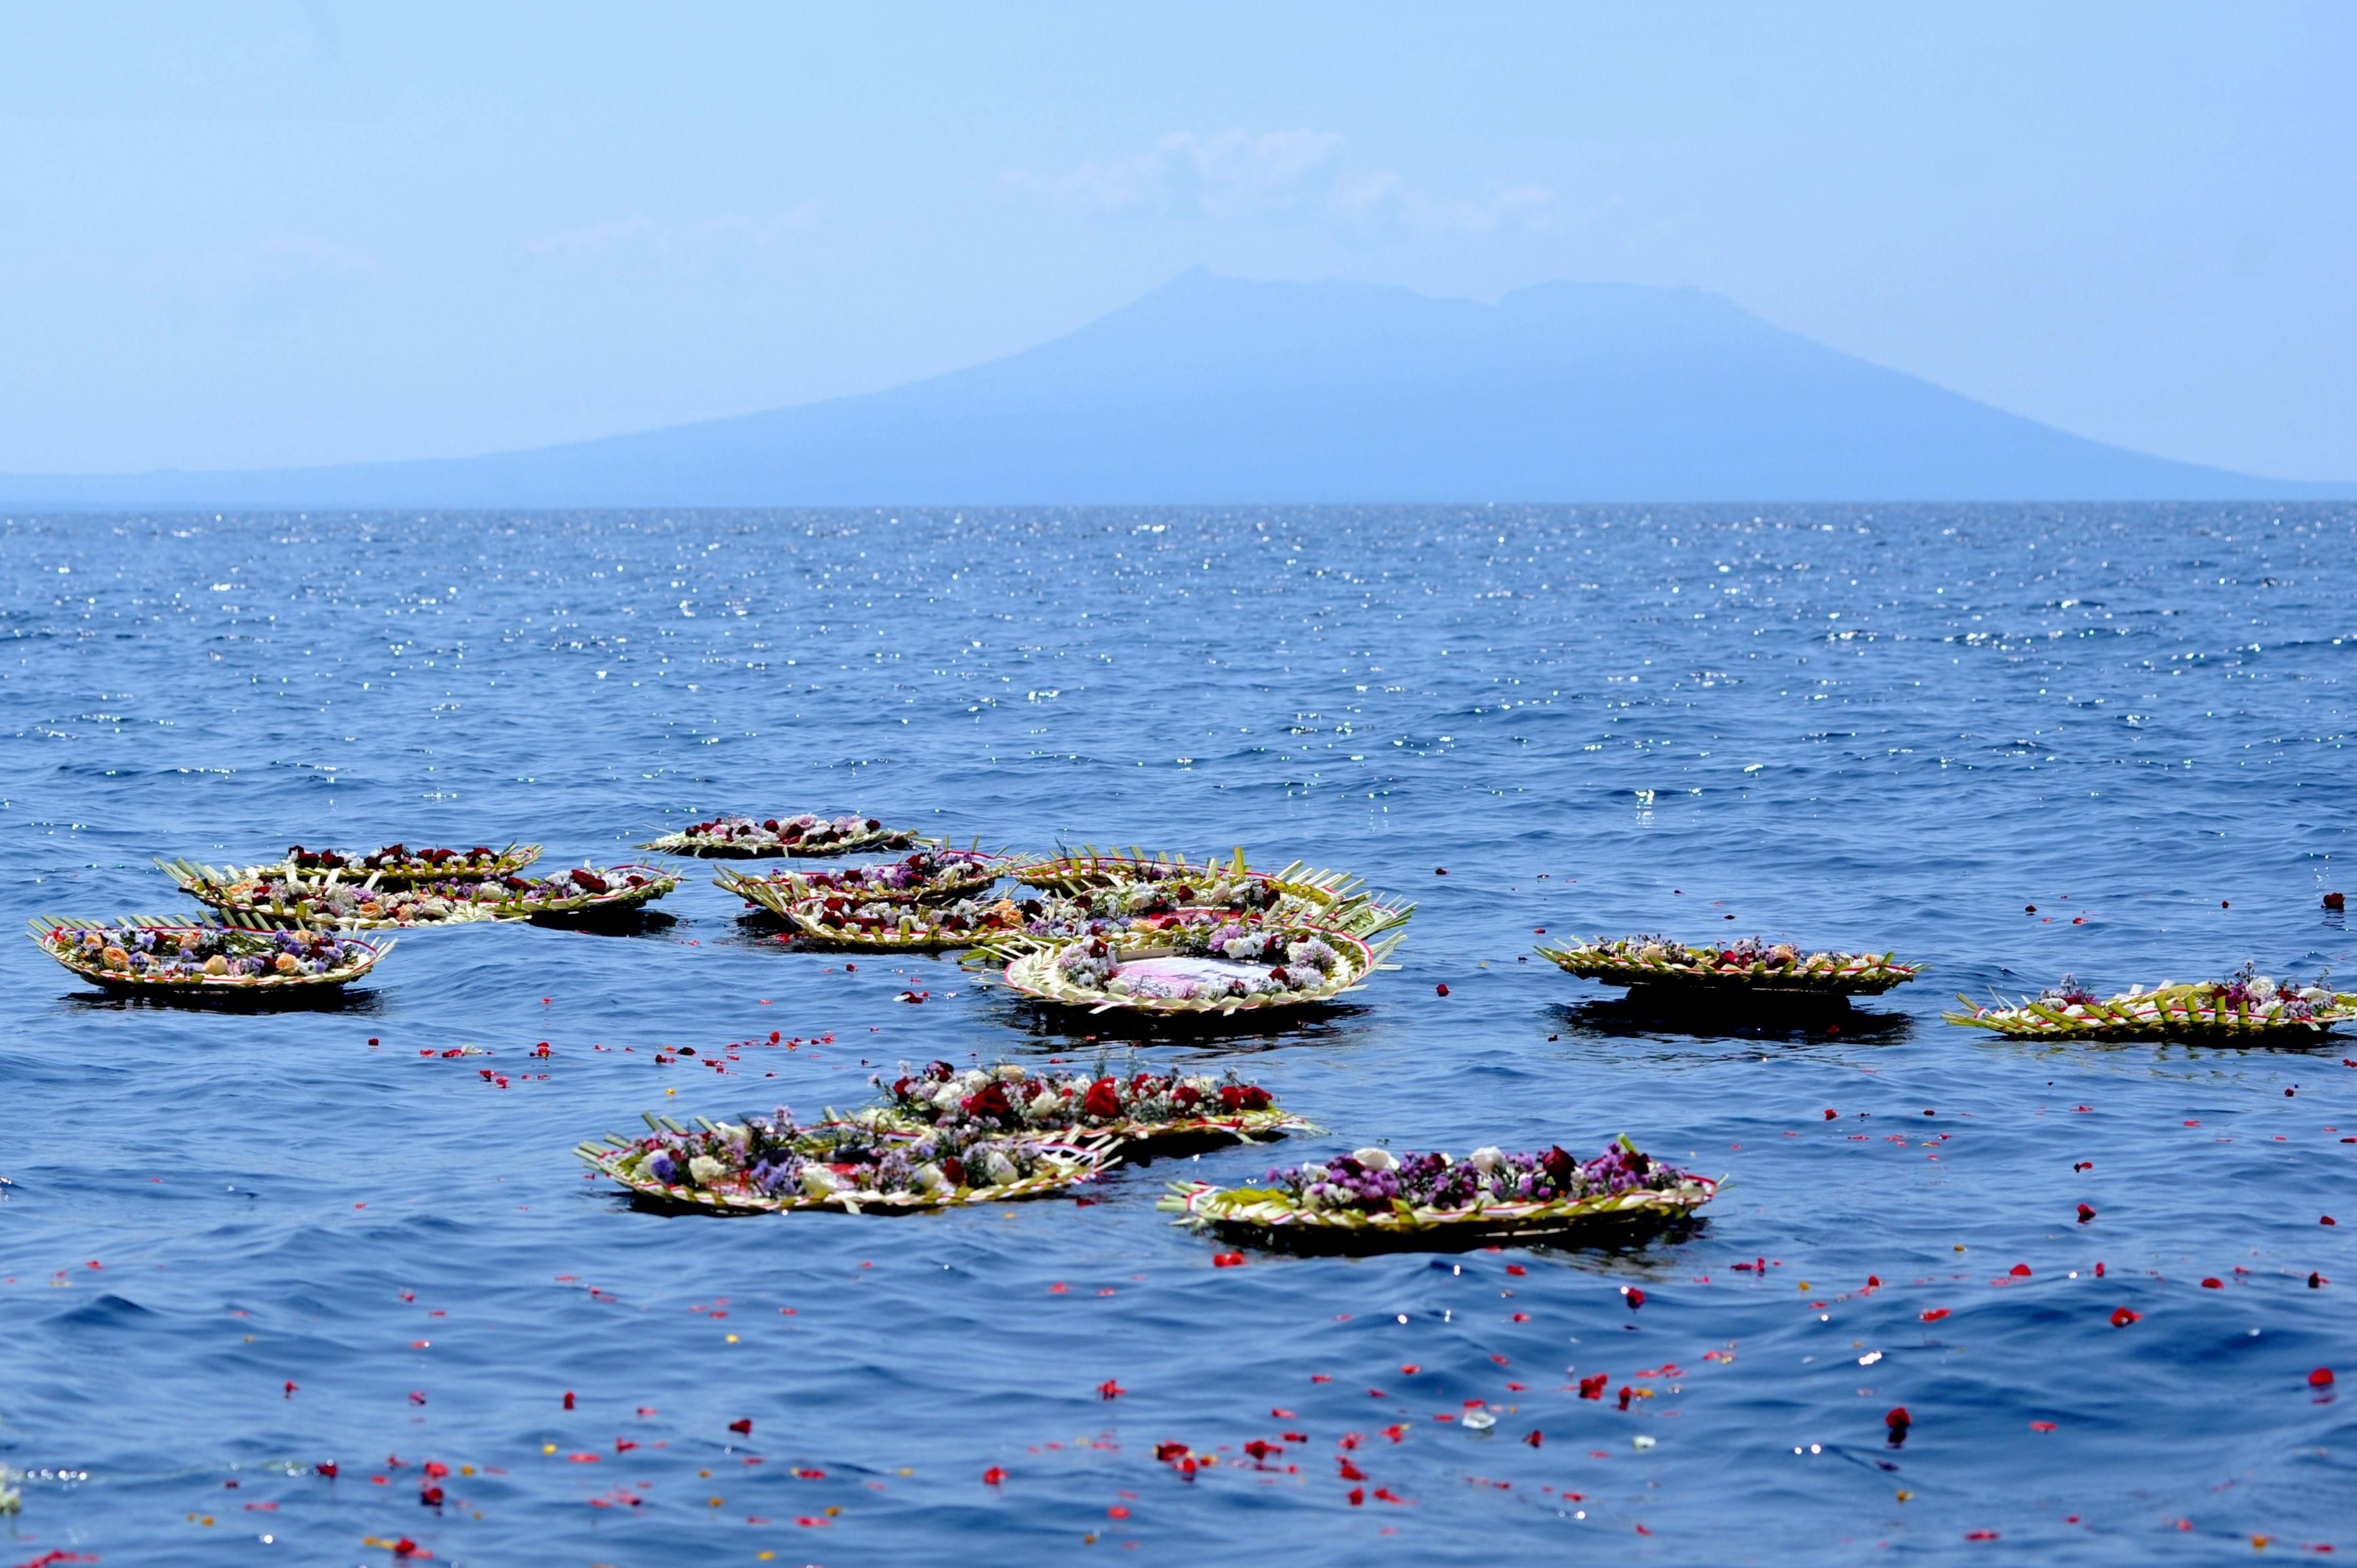
[[[1143,1144],[1216,1149],[1252,1144],[1315,1125],[1275,1104],[1259,1083],[1235,1074],[1028,1074],[1014,1062],[969,1067],[931,1062],[884,1085],[884,1104],[851,1121],[886,1130],[971,1128],[985,1135],[1030,1132],[1115,1140],[1115,1154]],[[834,1114],[830,1111],[830,1118]]]

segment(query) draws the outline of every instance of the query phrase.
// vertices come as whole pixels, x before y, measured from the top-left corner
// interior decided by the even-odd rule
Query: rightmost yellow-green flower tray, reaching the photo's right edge
[[[2069,975],[2011,1008],[2001,1003],[1982,1008],[1970,996],[1956,1001],[1970,1012],[1942,1012],[1940,1017],[1952,1024],[2074,1041],[2308,1038],[2357,1019],[2357,996],[2336,994],[2322,982],[2312,986],[2277,982],[2253,965],[2227,979],[2199,979],[2190,986],[2164,979],[2150,991],[2128,986],[2126,994],[2100,1001]]]

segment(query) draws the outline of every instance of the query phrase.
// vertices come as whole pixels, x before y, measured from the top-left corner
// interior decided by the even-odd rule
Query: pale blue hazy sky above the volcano
[[[889,386],[1209,264],[1699,285],[2357,478],[2357,5],[0,7],[0,469]]]

